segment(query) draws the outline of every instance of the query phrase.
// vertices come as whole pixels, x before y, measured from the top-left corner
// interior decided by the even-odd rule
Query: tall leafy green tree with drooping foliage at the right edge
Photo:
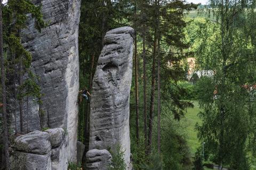
[[[197,125],[198,137],[206,142],[219,169],[224,164],[249,169],[245,149],[250,92],[245,85],[255,83],[251,39],[255,25],[247,23],[254,4],[221,0],[210,5],[206,22],[199,25],[197,61],[201,69],[214,70],[214,76],[198,82],[199,104],[204,108],[199,113],[203,124]]]

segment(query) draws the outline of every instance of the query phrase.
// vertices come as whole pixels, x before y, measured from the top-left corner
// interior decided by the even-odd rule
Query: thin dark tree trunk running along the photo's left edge
[[[4,51],[3,51],[3,18],[2,18],[2,1],[0,4],[0,57],[1,57],[1,84],[3,97],[3,129],[4,129],[4,152],[5,152],[5,169],[10,169],[9,164],[9,138],[7,127],[6,113],[6,91],[5,91],[5,68],[4,68]]]

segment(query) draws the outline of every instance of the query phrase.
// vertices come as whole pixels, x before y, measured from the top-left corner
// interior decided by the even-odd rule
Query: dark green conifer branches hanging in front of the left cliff
[[[3,6],[4,47],[5,50],[9,52],[8,54],[10,54],[10,56],[7,57],[7,62],[19,62],[22,68],[19,70],[19,75],[21,75],[21,77],[25,75],[26,77],[23,84],[19,86],[18,98],[34,96],[38,98],[38,103],[40,103],[42,95],[41,89],[37,84],[38,78],[30,68],[32,55],[21,44],[21,30],[27,28],[26,22],[28,16],[35,19],[35,28],[39,32],[41,32],[42,28],[46,27],[47,24],[43,21],[40,5],[36,6],[29,0],[9,0],[7,4]],[[15,59],[13,59],[12,56],[15,56]],[[12,68],[9,69],[7,69],[7,72],[12,71]]]

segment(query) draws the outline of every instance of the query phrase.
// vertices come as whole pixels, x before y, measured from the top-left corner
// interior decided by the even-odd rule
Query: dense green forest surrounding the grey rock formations
[[[135,31],[133,169],[256,169],[256,1],[82,0],[80,10],[79,91],[92,93],[106,33],[124,26]],[[28,17],[38,32],[49,27],[41,6],[29,0],[9,0],[0,7],[0,169],[10,169],[14,136],[28,133],[29,98],[41,105],[44,96],[31,69],[33,56],[22,46]],[[69,169],[86,169],[89,150],[91,94],[83,100],[80,95],[77,140],[85,151],[82,162],[69,162]],[[10,127],[12,114],[20,118]],[[126,169],[123,152],[112,154],[108,169]]]

